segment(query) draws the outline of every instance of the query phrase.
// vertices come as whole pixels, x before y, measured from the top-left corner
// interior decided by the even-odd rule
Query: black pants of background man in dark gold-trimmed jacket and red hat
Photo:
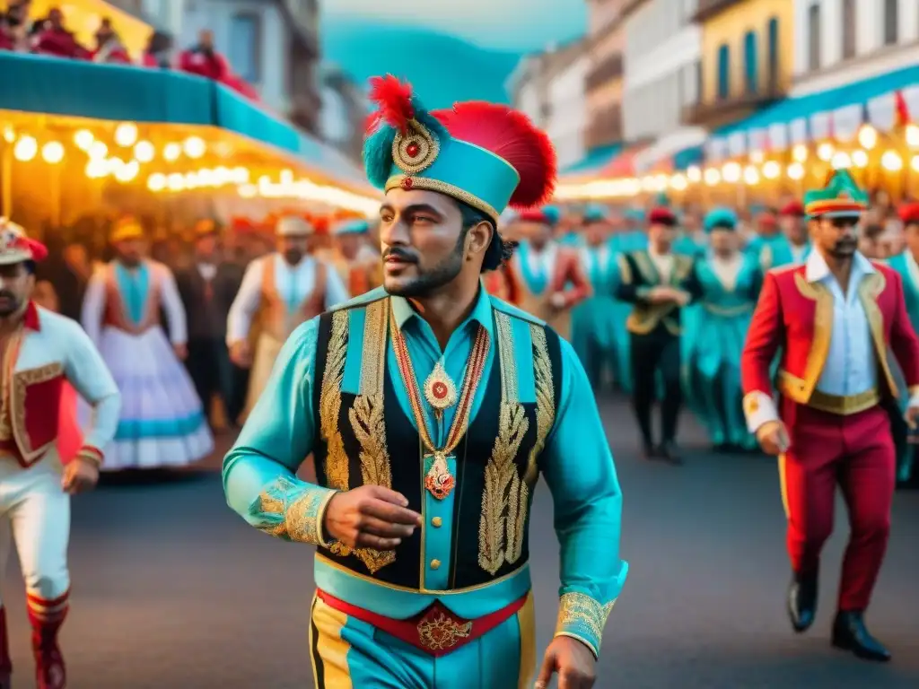
[[[646,447],[654,445],[651,410],[657,393],[660,372],[664,379],[661,401],[661,431],[664,443],[673,442],[683,390],[680,386],[680,338],[663,326],[646,335],[631,335],[632,406]]]

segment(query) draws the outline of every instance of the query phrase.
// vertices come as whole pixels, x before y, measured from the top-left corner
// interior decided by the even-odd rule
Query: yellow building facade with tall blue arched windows
[[[786,96],[794,17],[795,0],[698,0],[701,96],[685,121],[715,129]]]

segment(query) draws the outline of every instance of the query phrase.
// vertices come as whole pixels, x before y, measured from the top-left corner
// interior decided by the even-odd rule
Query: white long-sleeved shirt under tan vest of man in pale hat
[[[316,287],[316,260],[304,256],[297,265],[289,265],[281,254],[268,254],[256,259],[245,269],[243,284],[227,318],[227,343],[244,340],[249,336],[255,312],[262,303],[262,277],[265,262],[274,261],[275,288],[288,304],[300,305]],[[350,299],[345,283],[331,265],[325,270],[325,309],[331,309]],[[296,307],[294,307],[296,308]]]

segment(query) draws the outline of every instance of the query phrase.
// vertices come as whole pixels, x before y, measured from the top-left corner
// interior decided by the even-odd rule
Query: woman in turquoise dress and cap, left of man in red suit
[[[681,340],[686,394],[717,450],[753,449],[743,417],[740,357],[763,273],[756,257],[741,250],[732,210],[712,210],[705,231],[709,255],[695,270],[697,317],[686,323]]]

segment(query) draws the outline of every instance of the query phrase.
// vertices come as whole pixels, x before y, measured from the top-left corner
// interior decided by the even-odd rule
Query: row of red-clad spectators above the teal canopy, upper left
[[[216,50],[210,30],[201,31],[198,42],[177,55],[172,37],[154,30],[142,55],[134,60],[109,17],[103,17],[99,22],[94,36],[95,45],[85,46],[66,27],[60,8],[51,8],[47,17],[37,19],[31,17],[30,11],[31,0],[9,0],[6,11],[0,11],[0,51],[30,52],[107,64],[133,64],[152,69],[175,69],[213,79],[248,98],[258,99],[255,88],[233,73],[230,63]]]

